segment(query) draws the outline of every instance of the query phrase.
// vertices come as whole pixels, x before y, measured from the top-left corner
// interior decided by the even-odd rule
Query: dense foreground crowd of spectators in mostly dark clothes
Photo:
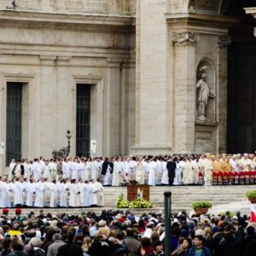
[[[80,216],[40,211],[0,217],[1,256],[161,256],[165,251],[165,216],[126,211],[87,212]],[[168,256],[256,255],[256,224],[240,212],[231,215],[172,215]],[[166,255],[167,256],[167,255]]]

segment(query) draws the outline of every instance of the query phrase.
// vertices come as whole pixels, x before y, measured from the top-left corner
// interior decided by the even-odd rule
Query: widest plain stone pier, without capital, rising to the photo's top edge
[[[169,154],[170,105],[166,1],[137,1],[136,136],[132,154]]]

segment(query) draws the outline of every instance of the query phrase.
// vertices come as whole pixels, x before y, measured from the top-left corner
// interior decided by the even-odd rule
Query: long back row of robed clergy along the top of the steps
[[[119,186],[135,179],[155,185],[249,184],[256,183],[255,154],[173,154],[115,156],[112,158],[66,157],[65,159],[12,160],[8,179],[31,177],[37,183],[61,179],[78,183],[98,180],[104,186]]]

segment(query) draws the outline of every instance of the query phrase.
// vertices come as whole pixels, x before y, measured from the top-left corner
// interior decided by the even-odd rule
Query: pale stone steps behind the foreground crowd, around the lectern
[[[192,210],[194,201],[211,201],[212,210],[210,213],[218,214],[227,210],[231,212],[241,211],[242,214],[249,213],[249,203],[246,198],[247,190],[256,189],[256,185],[245,186],[156,186],[150,187],[150,201],[154,203],[153,209],[130,209],[131,212],[164,212],[164,192],[172,192],[172,212]],[[93,211],[99,214],[103,209],[116,209],[118,196],[123,193],[126,198],[126,187],[105,187],[104,188],[104,207],[95,208],[44,208],[44,212],[57,214],[58,212],[67,212],[68,214],[81,214],[81,212]],[[23,209],[23,214],[34,210],[36,214],[40,209]],[[126,209],[123,209],[124,211]],[[12,210],[10,210],[12,212]]]

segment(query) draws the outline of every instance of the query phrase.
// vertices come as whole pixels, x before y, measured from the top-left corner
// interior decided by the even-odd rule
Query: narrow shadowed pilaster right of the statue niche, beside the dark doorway
[[[226,152],[227,149],[227,63],[228,63],[228,46],[231,39],[228,34],[218,36],[218,152]]]

